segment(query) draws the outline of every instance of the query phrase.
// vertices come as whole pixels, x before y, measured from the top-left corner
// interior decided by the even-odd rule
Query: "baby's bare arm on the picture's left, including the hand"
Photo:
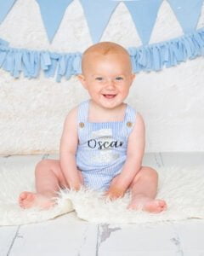
[[[59,148],[59,161],[66,182],[71,189],[80,189],[82,182],[77,170],[77,108],[71,110],[66,116]]]

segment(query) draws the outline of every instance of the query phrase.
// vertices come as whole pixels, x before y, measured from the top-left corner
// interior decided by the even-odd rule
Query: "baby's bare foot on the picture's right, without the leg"
[[[166,201],[163,201],[160,199],[143,197],[143,198],[133,199],[133,201],[131,201],[131,203],[127,208],[135,209],[135,210],[141,209],[146,212],[159,213],[167,210],[167,204],[166,204]]]

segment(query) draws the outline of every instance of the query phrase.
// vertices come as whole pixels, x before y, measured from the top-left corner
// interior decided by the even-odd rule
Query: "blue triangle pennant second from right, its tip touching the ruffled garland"
[[[124,2],[132,15],[134,24],[143,44],[148,44],[163,0],[137,0]]]

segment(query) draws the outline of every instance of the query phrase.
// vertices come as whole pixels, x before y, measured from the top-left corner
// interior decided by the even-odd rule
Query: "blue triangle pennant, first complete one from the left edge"
[[[72,1],[73,0],[37,0],[50,42],[52,42],[59,28],[60,22],[65,14],[65,9]]]

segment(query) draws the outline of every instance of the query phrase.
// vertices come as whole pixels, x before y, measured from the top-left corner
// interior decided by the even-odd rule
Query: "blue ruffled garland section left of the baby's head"
[[[82,54],[59,54],[49,51],[14,49],[8,42],[0,39],[0,67],[9,72],[14,78],[20,73],[28,79],[36,79],[42,70],[47,78],[56,75],[57,82],[62,77],[70,79],[71,75],[81,73]]]

